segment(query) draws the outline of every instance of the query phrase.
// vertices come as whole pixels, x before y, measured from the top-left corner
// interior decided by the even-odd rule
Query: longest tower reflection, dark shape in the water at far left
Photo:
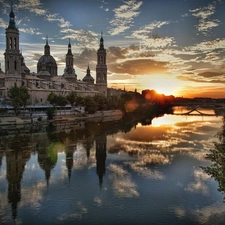
[[[17,205],[21,199],[21,180],[29,156],[29,152],[22,151],[21,149],[6,153],[8,202],[11,204],[14,220],[17,216]]]

